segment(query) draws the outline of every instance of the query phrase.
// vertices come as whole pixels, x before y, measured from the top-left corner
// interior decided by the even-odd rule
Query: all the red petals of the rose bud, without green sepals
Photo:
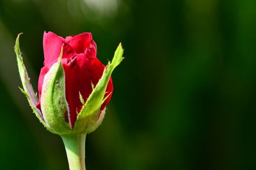
[[[74,127],[77,113],[80,112],[83,106],[79,99],[79,92],[83,96],[84,101],[86,101],[92,93],[92,84],[97,85],[105,68],[100,60],[96,58],[97,45],[92,39],[92,34],[88,32],[77,36],[68,36],[65,39],[53,32],[44,32],[43,46],[45,60],[38,80],[39,103],[37,108],[40,109],[44,76],[51,69],[52,65],[58,61],[61,46],[63,46],[61,63],[65,71],[65,94],[69,109],[69,113],[65,115],[65,118],[70,127]],[[113,83],[110,78],[106,94],[104,95],[107,99],[102,104],[100,110],[104,110],[111,98],[112,92]]]

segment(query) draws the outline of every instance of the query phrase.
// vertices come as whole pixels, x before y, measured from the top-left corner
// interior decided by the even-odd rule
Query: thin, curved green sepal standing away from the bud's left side
[[[20,34],[22,34],[22,33],[20,33]],[[19,89],[27,97],[28,103],[31,106],[31,108],[32,108],[33,112],[35,113],[36,117],[38,118],[38,120],[49,131],[52,132],[51,128],[46,124],[41,111],[38,110],[38,108],[36,108],[36,104],[38,103],[38,97],[36,96],[35,91],[33,90],[33,87],[30,83],[30,78],[28,76],[26,67],[25,67],[23,59],[22,59],[22,55],[20,52],[20,46],[19,46],[20,34],[18,34],[16,42],[15,42],[15,46],[14,46],[14,51],[15,51],[16,57],[17,57],[17,64],[18,64],[18,69],[19,69],[19,74],[20,74],[20,80],[22,82],[22,87],[23,87],[23,89],[21,89],[20,87],[19,87]]]

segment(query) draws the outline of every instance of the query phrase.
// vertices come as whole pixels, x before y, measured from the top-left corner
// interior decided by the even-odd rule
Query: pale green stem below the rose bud
[[[85,137],[86,134],[61,135],[70,170],[85,170]]]

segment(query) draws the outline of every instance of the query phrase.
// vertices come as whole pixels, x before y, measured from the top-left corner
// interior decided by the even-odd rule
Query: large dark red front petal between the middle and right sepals
[[[68,62],[65,62],[64,60],[62,61],[65,70],[66,99],[70,114],[69,120],[72,127],[74,127],[77,113],[79,113],[82,108],[82,103],[79,99],[79,92],[81,92],[84,101],[86,101],[92,93],[92,83],[93,85],[97,85],[105,66],[100,62],[100,60],[92,57],[86,57],[84,53],[74,56],[74,59],[69,60]],[[112,80],[109,80],[105,97],[112,92],[113,84]],[[106,107],[110,98],[111,95],[106,99],[104,104],[102,104],[102,110]]]

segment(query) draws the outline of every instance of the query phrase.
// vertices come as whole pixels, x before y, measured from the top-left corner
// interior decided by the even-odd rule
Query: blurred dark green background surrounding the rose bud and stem
[[[256,169],[255,0],[0,0],[0,169],[68,169],[61,138],[33,115],[14,41],[34,89],[42,35],[92,32],[107,64],[125,60],[87,169]]]

